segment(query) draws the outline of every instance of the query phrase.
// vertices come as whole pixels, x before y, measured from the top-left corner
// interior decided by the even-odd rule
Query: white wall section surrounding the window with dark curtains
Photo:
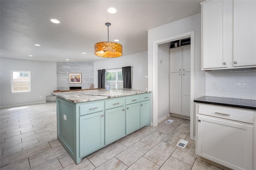
[[[97,70],[132,66],[132,89],[146,90],[148,88],[148,52],[143,51],[132,55],[121,56],[94,62],[94,88],[98,87]]]

